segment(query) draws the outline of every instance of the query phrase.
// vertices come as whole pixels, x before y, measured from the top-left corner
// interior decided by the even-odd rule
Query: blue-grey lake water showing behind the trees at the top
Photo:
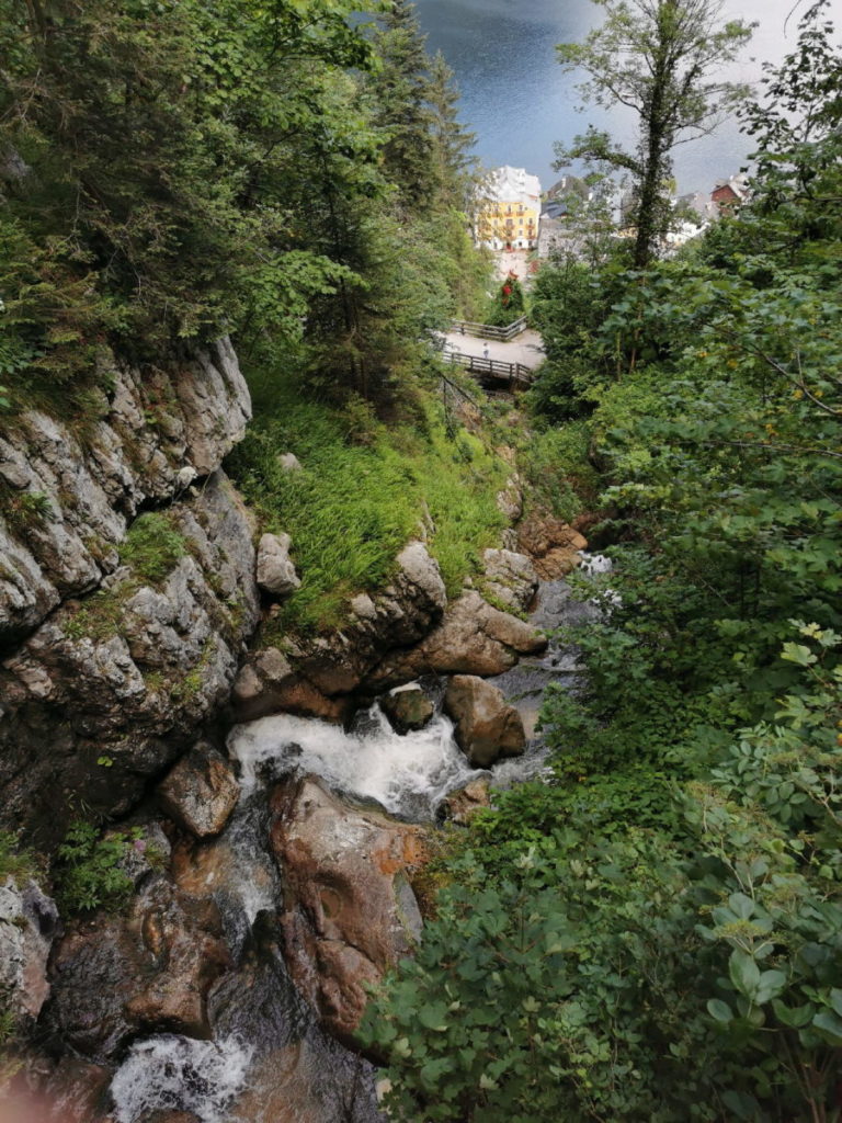
[[[800,0],[726,0],[725,18],[759,21],[744,57],[729,77],[757,81],[761,62],[779,61],[797,35]],[[456,71],[461,117],[477,135],[477,154],[487,167],[512,164],[538,175],[544,188],[561,173],[551,170],[553,141],[569,143],[588,122],[607,127],[626,143],[633,118],[587,107],[577,112],[575,74],[556,62],[557,43],[580,39],[602,20],[591,0],[415,0],[428,49],[440,49]],[[838,24],[842,0],[835,0]],[[785,26],[786,25],[786,26]],[[680,191],[706,191],[739,171],[751,150],[735,121],[714,136],[679,145],[674,164]],[[575,171],[575,168],[574,168]]]

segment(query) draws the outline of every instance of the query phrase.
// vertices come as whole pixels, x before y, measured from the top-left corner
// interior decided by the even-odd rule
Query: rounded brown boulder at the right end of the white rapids
[[[519,757],[527,747],[523,722],[501,691],[475,675],[454,675],[445,692],[445,712],[472,765],[487,768],[498,757]]]

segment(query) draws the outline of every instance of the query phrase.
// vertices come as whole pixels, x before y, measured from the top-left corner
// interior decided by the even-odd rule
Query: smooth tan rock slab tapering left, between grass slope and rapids
[[[366,685],[376,690],[425,674],[501,675],[519,655],[546,647],[546,637],[530,624],[469,592],[450,605],[439,627],[417,647],[387,656]]]

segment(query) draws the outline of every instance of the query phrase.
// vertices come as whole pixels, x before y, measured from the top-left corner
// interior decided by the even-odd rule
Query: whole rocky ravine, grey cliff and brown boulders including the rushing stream
[[[155,378],[154,424],[148,374],[116,367],[95,439],[36,418],[0,445],[7,483],[49,512],[2,575],[3,825],[44,851],[76,818],[134,831],[118,911],[58,915],[20,876],[0,891],[0,998],[25,1042],[4,1095],[15,1123],[369,1123],[365,985],[420,935],[411,883],[448,793],[540,770],[536,740],[493,759],[522,748],[509,700],[533,709],[519,660],[530,688],[559,669],[534,626],[558,622],[562,586],[531,621],[503,611],[538,579],[489,550],[501,608],[448,603],[415,541],[341,631],[247,652],[255,527],[219,467],[245,384],[225,345]],[[544,542],[562,570],[583,545],[559,526]]]

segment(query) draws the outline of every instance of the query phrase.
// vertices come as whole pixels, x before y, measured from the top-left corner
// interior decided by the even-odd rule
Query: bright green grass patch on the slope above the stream
[[[292,536],[301,588],[274,627],[300,632],[341,623],[348,600],[390,578],[395,557],[432,521],[430,549],[448,593],[476,572],[504,526],[495,504],[506,465],[465,430],[448,429],[430,399],[413,426],[387,429],[360,403],[304,401],[266,372],[251,378],[255,422],[229,469],[263,529]],[[286,472],[281,453],[301,472]]]

